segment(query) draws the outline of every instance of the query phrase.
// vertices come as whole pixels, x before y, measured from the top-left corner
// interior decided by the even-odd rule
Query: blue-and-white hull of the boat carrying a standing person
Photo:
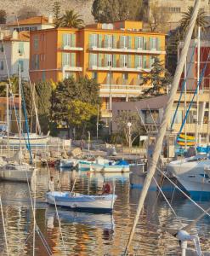
[[[116,195],[82,195],[54,191],[47,193],[47,201],[50,205],[54,205],[56,202],[59,207],[70,207],[75,210],[111,212],[116,201]]]

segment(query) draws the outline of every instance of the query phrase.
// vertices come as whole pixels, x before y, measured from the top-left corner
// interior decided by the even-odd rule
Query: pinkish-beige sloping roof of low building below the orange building
[[[145,109],[160,109],[165,108],[167,104],[167,95],[156,96],[149,99],[139,100],[138,102],[112,102],[112,110],[116,112],[117,110],[131,110],[136,111],[136,108]]]

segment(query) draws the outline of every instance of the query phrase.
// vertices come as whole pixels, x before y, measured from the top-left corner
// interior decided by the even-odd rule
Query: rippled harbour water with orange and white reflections
[[[85,194],[95,194],[101,189],[105,180],[115,180],[118,196],[111,214],[93,214],[66,211],[59,209],[60,224],[56,218],[54,207],[48,207],[45,201],[48,172],[41,169],[37,172],[37,225],[42,231],[48,247],[53,255],[122,255],[128,241],[137,207],[140,190],[130,189],[129,176],[101,175],[87,172],[58,172],[50,170],[55,180],[60,178],[60,189],[71,190],[76,179],[75,191]],[[6,234],[9,255],[32,255],[33,215],[29,189],[26,183],[0,183],[3,199],[3,215],[6,224]],[[35,184],[31,184],[31,195],[35,192]],[[133,240],[133,255],[177,255],[178,241],[148,225],[148,220],[155,224],[170,224],[177,227],[179,223],[188,224],[201,211],[188,200],[175,193],[167,192],[167,198],[172,201],[177,216],[167,206],[166,201],[152,189],[147,196],[144,212],[139,218],[138,229]],[[199,202],[202,207],[209,207],[209,202]],[[210,250],[210,218],[203,218],[196,226],[201,237],[202,249]],[[65,243],[65,250],[62,242]],[[191,244],[189,244],[192,247]],[[3,237],[3,221],[0,219],[0,255],[6,255]],[[40,236],[36,236],[36,255],[48,255]]]

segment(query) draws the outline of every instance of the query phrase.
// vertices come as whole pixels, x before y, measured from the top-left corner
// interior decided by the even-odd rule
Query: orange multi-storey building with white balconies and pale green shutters
[[[70,76],[96,79],[104,118],[110,116],[112,102],[139,96],[154,57],[164,65],[166,54],[165,34],[142,32],[142,22],[129,20],[31,32],[30,50],[32,82]]]

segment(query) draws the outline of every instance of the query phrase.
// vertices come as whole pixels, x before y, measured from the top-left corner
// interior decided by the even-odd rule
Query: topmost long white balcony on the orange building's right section
[[[138,49],[130,49],[128,47],[124,47],[124,45],[120,45],[118,43],[118,47],[114,48],[111,45],[102,44],[99,46],[90,46],[89,50],[96,52],[116,52],[116,53],[133,53],[133,54],[153,54],[153,55],[165,55],[166,50],[164,48],[152,49],[150,48],[150,44],[146,44],[144,48]]]

